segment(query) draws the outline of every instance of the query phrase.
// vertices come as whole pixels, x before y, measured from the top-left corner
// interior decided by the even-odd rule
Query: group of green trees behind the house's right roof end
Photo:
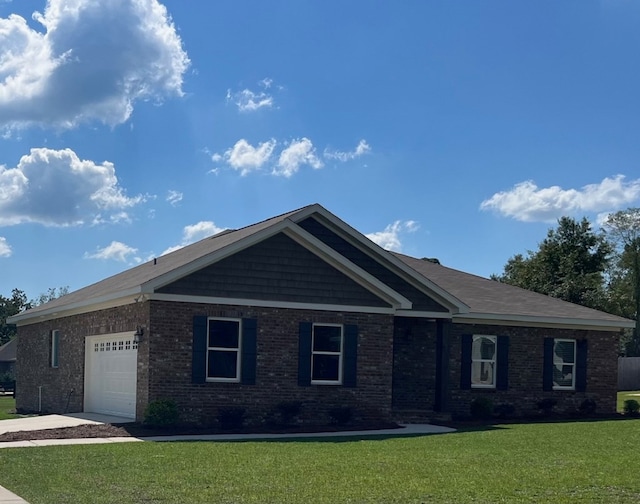
[[[640,208],[610,214],[599,230],[561,217],[538,250],[511,257],[493,280],[636,321],[621,353],[640,356]]]

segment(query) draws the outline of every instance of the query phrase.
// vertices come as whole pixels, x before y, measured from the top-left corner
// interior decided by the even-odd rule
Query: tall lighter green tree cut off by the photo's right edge
[[[605,230],[616,251],[609,280],[611,311],[636,321],[627,355],[640,355],[640,208],[610,214]]]

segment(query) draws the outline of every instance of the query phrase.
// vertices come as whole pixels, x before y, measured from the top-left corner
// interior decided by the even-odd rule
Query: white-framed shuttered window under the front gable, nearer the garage
[[[209,319],[207,381],[240,381],[241,321]]]

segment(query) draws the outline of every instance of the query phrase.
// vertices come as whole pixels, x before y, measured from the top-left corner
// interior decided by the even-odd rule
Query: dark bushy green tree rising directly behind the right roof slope
[[[605,272],[612,247],[586,218],[558,220],[537,251],[511,257],[494,280],[517,285],[571,303],[604,309]]]

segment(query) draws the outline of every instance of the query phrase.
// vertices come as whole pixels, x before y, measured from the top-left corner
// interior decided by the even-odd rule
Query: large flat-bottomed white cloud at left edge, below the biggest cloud
[[[15,168],[0,165],[0,226],[122,221],[142,201],[118,185],[113,163],[81,160],[71,149],[31,149]]]

